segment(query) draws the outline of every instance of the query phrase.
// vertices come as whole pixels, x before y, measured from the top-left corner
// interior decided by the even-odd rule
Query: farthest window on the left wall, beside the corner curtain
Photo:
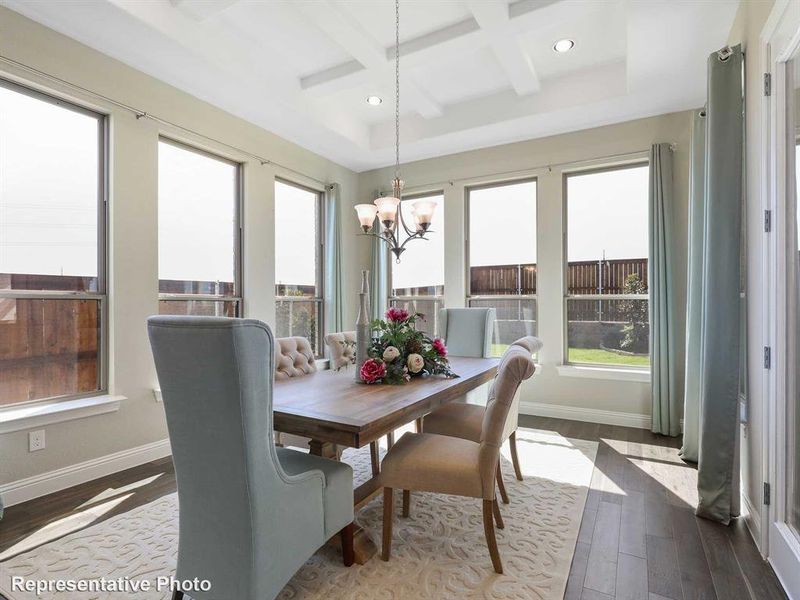
[[[322,354],[322,194],[275,181],[277,336],[307,338]]]

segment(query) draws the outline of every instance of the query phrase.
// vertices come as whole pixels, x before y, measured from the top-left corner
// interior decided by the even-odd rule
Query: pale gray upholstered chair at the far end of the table
[[[492,355],[494,308],[442,308],[439,333],[453,356],[475,358]]]

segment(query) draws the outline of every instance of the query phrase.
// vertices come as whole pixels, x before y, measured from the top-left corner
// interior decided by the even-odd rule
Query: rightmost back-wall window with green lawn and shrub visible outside
[[[566,176],[567,361],[650,364],[648,165]]]

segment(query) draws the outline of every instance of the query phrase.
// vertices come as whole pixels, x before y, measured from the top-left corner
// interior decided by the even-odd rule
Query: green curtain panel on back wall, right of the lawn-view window
[[[672,183],[672,149],[654,144],[650,149],[650,360],[654,433],[681,433],[680,386],[675,344],[675,277],[672,226],[675,203]]]

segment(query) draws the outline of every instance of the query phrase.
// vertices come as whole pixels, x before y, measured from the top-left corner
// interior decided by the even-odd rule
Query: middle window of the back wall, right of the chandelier
[[[467,189],[467,304],[493,307],[492,354],[536,335],[536,180]]]

